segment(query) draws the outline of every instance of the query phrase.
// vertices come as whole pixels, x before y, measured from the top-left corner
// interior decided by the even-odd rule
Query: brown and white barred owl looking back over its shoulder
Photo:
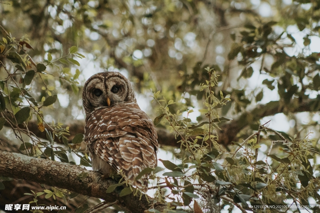
[[[116,171],[143,192],[148,175],[135,180],[145,168],[157,166],[155,126],[137,104],[131,83],[119,72],[101,72],[84,84],[86,114],[84,142],[92,169],[108,177]]]

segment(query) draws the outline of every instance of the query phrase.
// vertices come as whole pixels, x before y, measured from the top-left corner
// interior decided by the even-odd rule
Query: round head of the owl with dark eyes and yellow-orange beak
[[[98,107],[137,103],[130,81],[119,72],[100,72],[91,76],[84,84],[82,99],[86,115]]]

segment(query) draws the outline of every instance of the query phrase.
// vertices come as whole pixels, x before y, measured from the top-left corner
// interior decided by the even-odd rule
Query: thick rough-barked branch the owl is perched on
[[[88,171],[79,166],[28,157],[17,153],[0,151],[0,174],[3,177],[24,179],[40,184],[56,186],[79,194],[103,199],[107,202],[118,201],[118,206],[133,213],[142,213],[152,205],[153,198],[133,193],[119,197],[116,192],[106,193],[114,180],[101,180],[101,174]],[[161,211],[163,206],[157,206]]]

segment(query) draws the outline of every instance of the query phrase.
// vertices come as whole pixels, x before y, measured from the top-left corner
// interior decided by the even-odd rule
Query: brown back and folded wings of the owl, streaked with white
[[[94,110],[86,119],[86,141],[91,151],[108,162],[133,185],[146,191],[145,168],[157,165],[157,134],[150,118],[134,103]],[[90,131],[89,131],[90,130]]]

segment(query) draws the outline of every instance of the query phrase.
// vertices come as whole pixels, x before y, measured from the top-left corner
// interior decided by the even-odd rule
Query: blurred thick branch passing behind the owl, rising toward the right
[[[219,144],[223,144],[227,146],[232,141],[237,141],[237,133],[239,133],[244,127],[259,121],[261,118],[266,116],[275,115],[277,113],[296,113],[296,112],[304,112],[304,111],[318,111],[320,108],[320,100],[319,99],[308,99],[303,102],[300,102],[297,99],[292,100],[289,106],[283,106],[280,101],[272,101],[267,104],[257,105],[255,109],[250,112],[244,112],[237,119],[234,119],[228,123],[223,123],[220,125],[220,129],[218,131],[219,134]],[[73,139],[73,137],[77,133],[84,133],[84,121],[76,121],[72,124],[68,124],[70,127],[71,135],[68,137],[69,141]],[[23,126],[21,126],[23,128]],[[29,131],[34,133],[39,138],[46,139],[45,132],[40,132],[38,126],[35,121],[30,121],[28,123]],[[165,129],[157,128],[158,134],[158,143],[166,146],[175,146],[180,147],[180,143],[177,143],[181,140],[180,137],[175,138],[172,133],[167,132]]]

